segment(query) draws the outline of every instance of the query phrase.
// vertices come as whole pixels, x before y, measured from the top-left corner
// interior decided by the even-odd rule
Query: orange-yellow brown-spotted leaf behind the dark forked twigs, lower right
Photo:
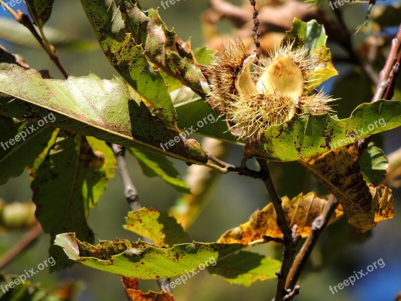
[[[284,213],[289,227],[298,226],[297,233],[302,237],[308,236],[312,222],[322,213],[327,203],[326,199],[319,198],[314,192],[306,195],[299,194],[292,200],[288,197],[281,198]],[[336,210],[329,223],[338,220],[342,216],[340,210]],[[276,211],[270,203],[262,210],[255,211],[248,222],[239,227],[228,230],[218,240],[220,243],[246,244],[262,238],[262,235],[283,237],[277,225]]]

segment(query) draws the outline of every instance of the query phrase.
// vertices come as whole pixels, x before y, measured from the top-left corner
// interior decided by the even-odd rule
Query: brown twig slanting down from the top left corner
[[[57,68],[60,70],[60,72],[63,74],[63,76],[67,79],[69,76],[67,70],[64,68],[63,64],[60,62],[59,56],[56,53],[56,49],[52,45],[50,45],[49,42],[47,41],[42,29],[40,29],[40,31],[42,33],[42,37],[41,37],[27,15],[25,15],[23,12],[20,12],[20,11],[18,11],[18,13],[16,13],[3,0],[0,0],[0,6],[3,6],[14,17],[14,19],[18,23],[24,25],[26,28],[29,29],[29,31],[32,33],[32,35],[35,37],[35,39],[39,42],[39,44],[42,46],[42,48],[44,50],[46,50],[46,53],[49,55],[50,59],[54,62],[54,64],[57,66]],[[31,15],[33,16],[33,14],[31,14]]]

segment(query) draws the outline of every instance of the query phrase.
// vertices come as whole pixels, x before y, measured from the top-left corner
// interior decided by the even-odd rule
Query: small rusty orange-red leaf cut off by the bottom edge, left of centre
[[[162,290],[143,292],[138,289],[138,279],[122,277],[125,292],[129,301],[175,301],[174,296]]]

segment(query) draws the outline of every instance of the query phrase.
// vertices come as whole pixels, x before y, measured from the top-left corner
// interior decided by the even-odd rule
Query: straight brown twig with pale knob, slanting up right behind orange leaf
[[[299,279],[299,276],[305,269],[310,254],[312,253],[313,248],[316,246],[320,234],[327,226],[337,206],[337,199],[333,195],[330,195],[328,204],[325,206],[323,212],[313,221],[311,231],[309,232],[309,235],[302,245],[298,255],[295,257],[294,264],[292,265],[288,274],[286,282],[287,289],[293,290],[296,287],[295,285]]]

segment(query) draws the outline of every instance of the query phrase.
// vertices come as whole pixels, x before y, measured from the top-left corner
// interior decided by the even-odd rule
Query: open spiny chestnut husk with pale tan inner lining
[[[332,111],[334,100],[317,92],[316,73],[304,48],[289,44],[260,58],[251,72],[256,54],[239,40],[222,45],[208,70],[209,103],[224,116],[231,132],[249,139],[255,133],[289,120],[294,114]]]

